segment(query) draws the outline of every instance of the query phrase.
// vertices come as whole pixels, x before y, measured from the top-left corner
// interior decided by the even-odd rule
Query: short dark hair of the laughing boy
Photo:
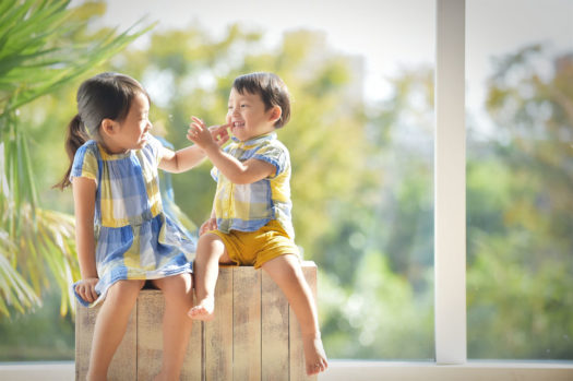
[[[280,119],[275,122],[275,128],[285,126],[290,119],[290,96],[287,86],[278,75],[265,72],[240,75],[232,82],[232,88],[241,95],[244,92],[259,94],[263,99],[265,110],[274,106],[280,107]]]

